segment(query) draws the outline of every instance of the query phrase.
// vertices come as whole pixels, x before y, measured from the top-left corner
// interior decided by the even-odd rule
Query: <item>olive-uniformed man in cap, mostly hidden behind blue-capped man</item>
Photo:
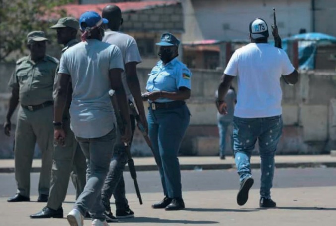
[[[68,48],[78,43],[76,35],[79,22],[73,17],[64,17],[52,27],[57,32],[57,42],[63,44],[64,53]],[[57,72],[54,82],[54,97],[56,93]],[[63,129],[67,133],[65,145],[54,144],[53,167],[51,171],[50,191],[47,206],[40,212],[30,215],[31,218],[63,218],[62,202],[67,195],[69,177],[77,191],[77,197],[82,193],[86,183],[86,158],[70,129],[69,108],[72,100],[72,86],[68,86],[67,103],[63,113]],[[72,171],[72,172],[71,172]],[[76,197],[76,198],[77,198]]]

